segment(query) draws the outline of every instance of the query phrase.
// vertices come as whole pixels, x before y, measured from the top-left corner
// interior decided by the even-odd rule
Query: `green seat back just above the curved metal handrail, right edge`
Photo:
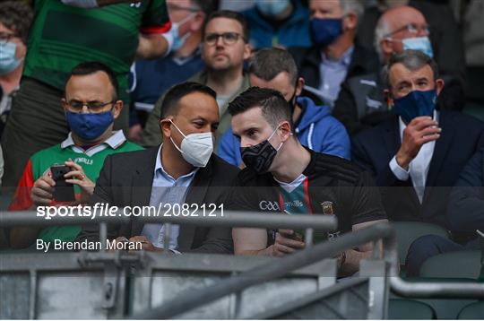
[[[432,256],[420,268],[422,277],[477,279],[479,275],[480,250]]]

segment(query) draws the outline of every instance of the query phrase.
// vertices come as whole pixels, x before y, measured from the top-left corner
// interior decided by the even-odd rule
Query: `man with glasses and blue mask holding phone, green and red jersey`
[[[76,200],[69,204],[86,204],[104,159],[113,153],[141,149],[127,142],[123,131],[113,131],[114,119],[119,117],[123,108],[118,93],[116,74],[108,66],[89,62],[73,68],[65,83],[65,98],[62,99],[71,133],[63,143],[30,157],[10,211],[58,204],[53,198],[56,182],[50,172],[50,167],[55,164],[65,164],[71,169],[65,175],[65,182],[74,185]],[[10,238],[12,247],[19,248],[29,247],[38,237],[44,241],[70,241],[80,231],[80,226],[50,226],[42,230],[16,227]]]

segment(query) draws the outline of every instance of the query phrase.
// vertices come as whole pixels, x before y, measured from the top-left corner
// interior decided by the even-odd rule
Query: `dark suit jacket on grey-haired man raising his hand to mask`
[[[354,138],[352,160],[371,171],[376,185],[382,187],[389,220],[427,221],[449,228],[445,214],[448,196],[464,165],[484,145],[484,123],[444,110],[440,112],[439,126],[442,134],[430,161],[422,204],[411,178],[399,180],[389,166],[402,145],[398,117]]]

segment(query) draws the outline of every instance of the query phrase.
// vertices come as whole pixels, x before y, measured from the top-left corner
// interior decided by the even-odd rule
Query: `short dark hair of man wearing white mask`
[[[160,119],[168,116],[174,116],[178,112],[178,101],[180,101],[186,95],[193,92],[202,92],[217,99],[217,93],[212,88],[205,86],[198,82],[182,82],[174,85],[167,91],[165,97],[161,101],[161,114]]]

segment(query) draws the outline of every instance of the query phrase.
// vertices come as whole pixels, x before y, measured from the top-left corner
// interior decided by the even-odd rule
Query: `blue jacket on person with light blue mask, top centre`
[[[271,48],[275,45],[285,48],[311,47],[309,11],[300,4],[299,0],[292,1],[292,4],[294,4],[294,12],[279,29],[274,29],[256,7],[242,12],[250,26],[250,44],[253,48]]]

